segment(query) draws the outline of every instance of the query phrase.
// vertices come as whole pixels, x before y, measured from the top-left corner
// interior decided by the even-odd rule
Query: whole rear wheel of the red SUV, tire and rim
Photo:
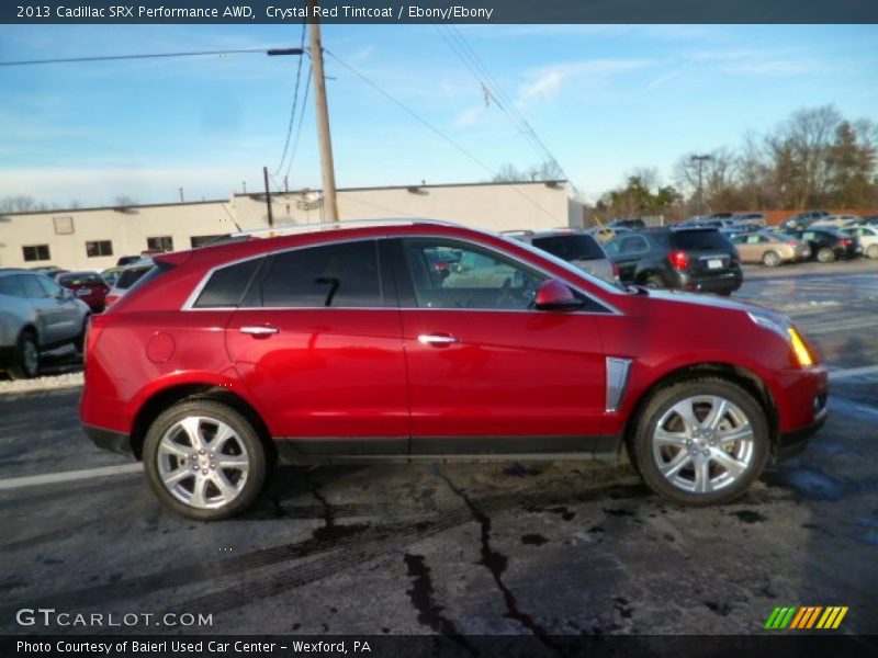
[[[266,450],[252,424],[213,400],[190,400],[161,413],[144,443],[149,484],[190,519],[227,519],[247,510],[266,480]]]

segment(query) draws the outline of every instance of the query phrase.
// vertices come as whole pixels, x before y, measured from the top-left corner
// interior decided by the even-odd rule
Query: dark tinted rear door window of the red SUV
[[[282,308],[382,307],[374,240],[297,249],[274,257],[256,305]]]

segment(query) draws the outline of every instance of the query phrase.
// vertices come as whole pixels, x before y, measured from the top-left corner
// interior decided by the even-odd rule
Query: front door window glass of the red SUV
[[[487,249],[435,239],[403,240],[418,308],[522,310],[547,277]],[[437,268],[438,262],[449,263]]]

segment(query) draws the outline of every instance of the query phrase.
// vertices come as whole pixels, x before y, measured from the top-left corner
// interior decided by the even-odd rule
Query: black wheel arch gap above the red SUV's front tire
[[[770,450],[774,453],[777,445],[780,419],[777,410],[777,402],[768,385],[756,373],[746,367],[732,363],[707,362],[682,366],[665,373],[640,393],[634,401],[634,406],[628,417],[622,433],[629,455],[633,453],[631,441],[633,440],[637,424],[652,397],[657,392],[673,386],[674,384],[705,376],[725,379],[732,384],[736,384],[753,396],[756,402],[765,410],[765,416],[768,419],[768,431],[772,441]]]

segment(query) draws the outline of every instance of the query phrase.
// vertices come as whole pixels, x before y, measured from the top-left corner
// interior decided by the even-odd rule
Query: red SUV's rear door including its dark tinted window
[[[271,433],[303,455],[404,454],[408,398],[395,291],[373,239],[268,257],[226,329]]]

